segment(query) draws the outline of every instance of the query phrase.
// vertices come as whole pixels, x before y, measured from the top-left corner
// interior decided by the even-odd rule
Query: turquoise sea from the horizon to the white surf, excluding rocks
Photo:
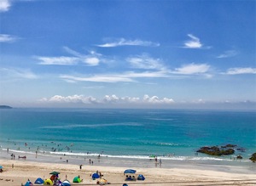
[[[27,145],[25,145],[25,143]],[[1,149],[52,155],[198,159],[201,146],[236,144],[246,159],[256,152],[253,111],[0,110]]]

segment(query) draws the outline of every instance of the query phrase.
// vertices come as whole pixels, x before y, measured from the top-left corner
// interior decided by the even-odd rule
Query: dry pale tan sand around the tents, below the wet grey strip
[[[47,158],[47,157],[45,157]],[[253,163],[252,163],[253,164]],[[103,177],[108,180],[109,185],[255,185],[256,174],[255,166],[251,168],[241,167],[241,171],[234,172],[232,166],[212,166],[211,169],[189,166],[189,168],[175,167],[132,167],[137,170],[136,175],[143,174],[144,181],[125,181],[124,171],[126,168],[121,166],[99,166],[99,165],[74,165],[72,163],[39,162],[26,160],[9,160],[3,157],[0,160],[3,172],[0,173],[1,186],[20,186],[25,184],[28,179],[35,182],[37,178],[49,178],[49,172],[61,172],[61,180],[67,179],[73,182],[73,178],[80,176],[81,183],[72,185],[96,185],[96,180],[91,178],[91,174],[98,171],[102,172]],[[236,167],[237,169],[237,167]],[[251,169],[251,170],[250,170]],[[224,171],[225,170],[225,171]]]

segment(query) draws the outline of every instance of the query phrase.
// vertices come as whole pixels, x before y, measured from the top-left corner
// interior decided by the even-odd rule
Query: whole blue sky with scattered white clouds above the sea
[[[0,104],[256,109],[254,0],[0,0]]]

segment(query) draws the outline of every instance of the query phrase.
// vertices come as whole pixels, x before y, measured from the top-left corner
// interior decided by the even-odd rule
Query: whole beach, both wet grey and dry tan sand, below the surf
[[[214,164],[199,164],[193,161],[172,161],[172,167],[168,167],[166,161],[162,165],[154,166],[154,161],[143,161],[138,165],[137,160],[114,159],[101,157],[98,161],[96,157],[91,156],[94,164],[89,164],[90,157],[86,157],[83,161],[80,157],[63,157],[61,155],[38,155],[36,158],[33,154],[26,154],[26,160],[18,159],[11,160],[10,152],[0,150],[0,165],[3,166],[3,172],[0,173],[0,184],[5,186],[20,186],[25,184],[29,178],[32,183],[37,178],[49,178],[49,172],[61,172],[60,178],[63,181],[67,175],[69,181],[80,176],[84,181],[79,185],[96,185],[96,180],[92,180],[90,175],[96,171],[102,172],[103,178],[106,178],[113,185],[204,185],[216,183],[217,185],[224,184],[256,184],[256,164],[250,162],[250,166],[241,165],[214,165]],[[20,154],[22,155],[22,154]],[[68,158],[68,162],[66,159]],[[183,165],[180,165],[180,164]],[[14,165],[14,168],[12,168]],[[79,165],[83,165],[79,169]],[[129,166],[130,165],[130,166]],[[137,174],[143,174],[146,178],[144,181],[125,182],[125,169],[136,169]],[[9,180],[9,181],[6,181]],[[252,183],[252,184],[251,184]],[[215,185],[216,185],[215,184]]]

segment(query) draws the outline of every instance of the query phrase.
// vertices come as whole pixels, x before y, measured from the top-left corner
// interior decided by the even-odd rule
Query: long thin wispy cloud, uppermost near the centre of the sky
[[[114,41],[106,42],[104,44],[96,45],[101,48],[113,48],[120,46],[143,46],[143,47],[159,47],[160,43],[157,42],[149,42],[142,40],[126,40],[125,38],[114,39]]]

